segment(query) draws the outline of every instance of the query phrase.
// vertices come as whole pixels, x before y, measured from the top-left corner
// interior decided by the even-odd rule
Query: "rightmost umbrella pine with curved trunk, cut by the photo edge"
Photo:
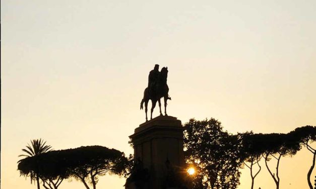
[[[301,145],[306,146],[307,150],[312,153],[312,164],[307,172],[307,182],[309,188],[313,189],[310,181],[310,175],[315,166],[316,149],[312,148],[310,143],[316,141],[316,127],[309,125],[305,127],[299,127],[294,131],[291,131],[288,135],[292,138],[292,140],[298,141]]]

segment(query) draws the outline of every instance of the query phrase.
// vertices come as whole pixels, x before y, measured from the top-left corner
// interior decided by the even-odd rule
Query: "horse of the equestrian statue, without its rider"
[[[169,87],[167,85],[167,76],[168,76],[168,67],[161,68],[161,71],[158,75],[158,80],[155,83],[152,92],[149,92],[148,87],[145,88],[145,90],[144,90],[144,97],[143,97],[142,102],[141,102],[141,110],[143,109],[143,104],[145,103],[146,121],[148,121],[147,106],[148,106],[149,100],[151,100],[151,103],[152,103],[151,112],[150,112],[150,119],[153,119],[153,111],[154,111],[154,108],[156,106],[157,101],[159,104],[160,116],[162,116],[161,102],[160,102],[160,99],[162,97],[164,99],[165,116],[168,116],[167,112],[166,112],[167,100],[171,100],[171,98],[168,95]]]

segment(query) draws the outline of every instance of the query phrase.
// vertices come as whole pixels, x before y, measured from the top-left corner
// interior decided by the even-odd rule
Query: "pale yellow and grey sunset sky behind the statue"
[[[133,153],[128,136],[145,121],[140,102],[155,64],[168,67],[167,113],[182,124],[213,117],[234,134],[316,125],[315,7],[313,0],[1,1],[2,188],[36,187],[17,171],[31,139],[56,150]],[[280,188],[307,188],[311,162],[304,148],[282,158]],[[261,164],[255,188],[275,188]],[[238,189],[250,188],[249,170],[241,172]],[[97,187],[123,184],[103,176]],[[85,186],[73,179],[59,188]]]

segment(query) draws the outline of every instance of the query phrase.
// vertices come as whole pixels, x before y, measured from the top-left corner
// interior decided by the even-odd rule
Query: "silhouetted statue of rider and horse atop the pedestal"
[[[165,116],[167,115],[167,100],[171,100],[168,95],[169,87],[167,85],[167,76],[168,76],[168,67],[161,68],[159,72],[159,65],[156,64],[155,68],[149,72],[148,76],[148,87],[144,90],[144,97],[141,102],[141,110],[143,109],[143,104],[145,103],[145,113],[146,113],[146,121],[147,118],[147,106],[148,101],[151,100],[152,107],[150,112],[150,119],[153,119],[153,111],[158,101],[160,115],[161,113],[161,102],[160,99],[164,98],[164,106],[165,106]]]

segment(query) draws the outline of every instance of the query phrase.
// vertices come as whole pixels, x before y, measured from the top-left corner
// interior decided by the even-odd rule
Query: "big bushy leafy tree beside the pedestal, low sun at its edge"
[[[236,188],[241,165],[239,136],[223,131],[214,118],[191,119],[184,127],[186,160],[199,168],[203,188]]]

